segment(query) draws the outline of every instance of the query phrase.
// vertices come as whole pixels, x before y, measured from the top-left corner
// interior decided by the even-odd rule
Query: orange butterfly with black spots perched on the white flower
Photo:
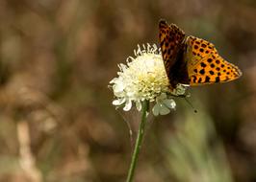
[[[185,33],[166,20],[159,22],[159,39],[170,89],[226,82],[242,76],[240,69],[218,55],[214,44]]]

